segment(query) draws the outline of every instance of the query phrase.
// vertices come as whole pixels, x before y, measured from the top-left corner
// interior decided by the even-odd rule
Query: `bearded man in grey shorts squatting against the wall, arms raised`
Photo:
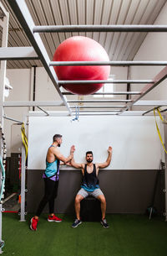
[[[103,169],[109,166],[112,158],[112,147],[108,149],[108,158],[104,163],[93,164],[93,152],[88,151],[86,152],[86,161],[87,164],[78,164],[75,163],[74,159],[71,160],[71,164],[74,168],[79,168],[82,170],[83,174],[83,181],[81,185],[81,189],[78,191],[77,196],[75,197],[75,212],[76,212],[76,219],[73,222],[72,227],[78,227],[81,224],[80,220],[80,201],[87,196],[94,196],[101,202],[101,211],[102,211],[102,220],[101,224],[103,227],[109,227],[106,219],[105,219],[105,212],[106,212],[106,201],[104,193],[99,188],[99,169]]]

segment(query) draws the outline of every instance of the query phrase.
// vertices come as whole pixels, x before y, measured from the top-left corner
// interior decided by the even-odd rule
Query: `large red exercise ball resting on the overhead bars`
[[[109,61],[104,48],[93,39],[73,36],[63,41],[53,55],[53,61]],[[109,65],[54,66],[58,80],[107,80]],[[73,94],[89,95],[104,84],[65,84],[63,88]]]

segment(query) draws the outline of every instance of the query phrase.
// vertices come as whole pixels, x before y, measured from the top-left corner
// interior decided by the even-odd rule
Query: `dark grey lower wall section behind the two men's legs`
[[[107,213],[144,213],[152,201],[157,170],[101,170],[99,185],[107,201]],[[43,170],[28,170],[27,211],[35,212],[43,196]],[[74,213],[80,188],[79,170],[61,170],[55,212]],[[164,173],[160,171],[155,205],[164,212]],[[43,212],[48,212],[48,206]]]

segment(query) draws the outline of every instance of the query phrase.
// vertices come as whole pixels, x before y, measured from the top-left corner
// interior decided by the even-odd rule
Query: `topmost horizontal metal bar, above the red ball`
[[[53,32],[167,32],[167,25],[61,25],[34,26],[33,33]]]

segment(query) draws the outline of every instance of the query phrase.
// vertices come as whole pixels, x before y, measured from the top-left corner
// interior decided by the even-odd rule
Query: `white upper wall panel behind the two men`
[[[44,170],[48,147],[55,133],[63,134],[60,151],[68,156],[75,145],[75,160],[84,162],[85,152],[94,152],[94,162],[104,162],[109,145],[113,159],[109,170],[159,168],[161,144],[153,117],[29,118],[28,169]],[[67,166],[67,169],[70,167]]]

